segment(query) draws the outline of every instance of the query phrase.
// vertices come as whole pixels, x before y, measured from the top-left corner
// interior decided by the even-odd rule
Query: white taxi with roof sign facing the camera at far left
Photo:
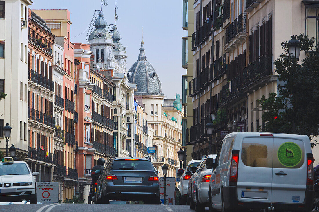
[[[0,202],[29,200],[37,203],[36,175],[40,173],[32,173],[26,162],[4,157],[0,162]]]

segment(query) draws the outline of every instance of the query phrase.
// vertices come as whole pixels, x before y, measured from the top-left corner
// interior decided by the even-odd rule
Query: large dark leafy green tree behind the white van
[[[278,84],[277,98],[271,94],[260,100],[265,110],[263,131],[304,134],[312,140],[319,135],[319,52],[317,46],[313,50],[314,38],[300,34],[297,39],[305,59],[298,62],[289,53],[287,41],[281,44],[284,53],[274,65],[278,81],[284,82],[284,86]]]

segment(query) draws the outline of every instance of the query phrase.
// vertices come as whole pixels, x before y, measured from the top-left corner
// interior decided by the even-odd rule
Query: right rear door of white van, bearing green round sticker
[[[302,203],[307,183],[305,145],[302,140],[274,138],[272,202]]]

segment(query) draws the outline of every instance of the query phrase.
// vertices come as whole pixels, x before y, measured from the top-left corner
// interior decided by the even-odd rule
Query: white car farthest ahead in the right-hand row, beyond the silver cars
[[[187,201],[187,187],[189,179],[192,176],[192,173],[190,172],[189,168],[192,166],[198,166],[198,164],[201,162],[201,160],[190,160],[188,162],[188,165],[185,168],[185,172],[181,176],[179,190],[180,190],[180,205],[185,205]]]

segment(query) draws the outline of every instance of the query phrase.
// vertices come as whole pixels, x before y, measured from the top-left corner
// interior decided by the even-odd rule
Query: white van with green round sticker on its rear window
[[[312,158],[306,135],[228,134],[213,164],[209,186],[211,211],[311,211]]]

